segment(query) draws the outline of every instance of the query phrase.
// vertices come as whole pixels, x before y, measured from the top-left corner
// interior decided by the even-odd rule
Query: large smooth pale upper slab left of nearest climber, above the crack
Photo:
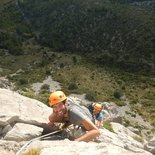
[[[0,126],[16,122],[41,125],[48,121],[52,109],[43,103],[19,95],[7,89],[0,89]]]

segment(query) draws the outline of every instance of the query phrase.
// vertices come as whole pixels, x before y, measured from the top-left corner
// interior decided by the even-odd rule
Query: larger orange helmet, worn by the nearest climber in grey
[[[50,98],[49,98],[50,102],[49,102],[49,104],[50,104],[50,106],[53,106],[55,104],[58,104],[59,102],[62,102],[64,100],[66,100],[66,99],[67,99],[67,97],[64,94],[64,92],[62,92],[62,91],[55,91],[55,92],[51,93],[51,95],[50,95]]]

